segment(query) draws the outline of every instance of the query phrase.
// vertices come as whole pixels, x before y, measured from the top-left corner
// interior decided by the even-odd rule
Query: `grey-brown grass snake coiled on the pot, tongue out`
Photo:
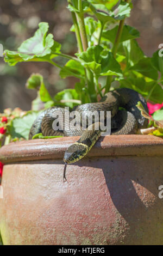
[[[118,88],[106,93],[99,102],[85,103],[72,108],[72,111],[78,111],[87,120],[90,118],[90,113],[97,111],[111,112],[111,135],[129,135],[136,134],[140,129],[146,128],[148,120],[141,115],[140,110],[136,107],[137,102],[141,102],[143,108],[148,112],[147,102],[145,98],[133,89]],[[64,119],[63,127],[59,127],[58,131],[53,129],[52,117],[54,113],[62,113],[64,108],[54,106],[42,111],[35,119],[30,132],[29,139],[32,139],[37,133],[42,133],[43,136],[80,136],[77,142],[67,148],[64,155],[64,178],[66,179],[67,163],[74,163],[82,159],[89,153],[93,145],[101,137],[102,130],[96,129],[96,122],[82,129],[67,129]],[[83,115],[82,115],[83,118]],[[58,121],[59,122],[59,121]],[[59,124],[60,125],[60,124]]]

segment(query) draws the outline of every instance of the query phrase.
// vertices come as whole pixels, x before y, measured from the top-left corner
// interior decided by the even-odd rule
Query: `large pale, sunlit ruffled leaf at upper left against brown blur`
[[[17,51],[4,51],[4,60],[9,65],[27,61],[48,61],[57,55],[52,52],[60,52],[61,45],[53,40],[53,35],[48,34],[48,23],[39,23],[39,29],[32,38],[22,42]]]

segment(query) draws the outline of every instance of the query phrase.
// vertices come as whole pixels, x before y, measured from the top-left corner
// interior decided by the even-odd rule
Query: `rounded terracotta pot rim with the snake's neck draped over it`
[[[0,149],[3,163],[63,159],[65,150],[79,137],[34,139],[13,142]],[[149,135],[111,135],[101,137],[87,155],[99,156],[163,156],[163,139]]]

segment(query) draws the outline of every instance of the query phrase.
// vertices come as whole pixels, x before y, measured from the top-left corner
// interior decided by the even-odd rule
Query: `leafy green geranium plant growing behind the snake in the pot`
[[[125,24],[133,8],[129,0],[68,0],[76,34],[78,52],[69,56],[61,51],[61,45],[48,33],[48,23],[39,23],[32,38],[22,42],[17,51],[5,50],[4,61],[14,66],[18,62],[48,62],[60,69],[61,78],[76,77],[74,89],[65,89],[51,96],[40,74],[32,74],[27,88],[37,90],[32,110],[24,113],[7,110],[1,114],[1,142],[28,139],[29,129],[39,112],[40,101],[45,108],[61,105],[73,107],[96,102],[114,87],[126,87],[141,93],[147,101],[162,104],[163,58],[159,51],[152,58],[146,57],[136,38],[140,34],[134,27]],[[55,58],[67,59],[65,66]],[[103,79],[102,79],[103,78]],[[140,106],[139,106],[140,107]],[[141,107],[140,107],[141,108]],[[143,111],[142,111],[143,112]],[[163,119],[163,109],[154,113],[154,120]],[[157,126],[157,122],[149,125]],[[159,133],[162,127],[159,122]],[[40,136],[40,135],[39,135]]]

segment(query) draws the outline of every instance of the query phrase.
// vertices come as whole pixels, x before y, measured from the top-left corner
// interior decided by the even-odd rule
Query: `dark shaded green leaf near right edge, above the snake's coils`
[[[132,66],[130,70],[135,70],[141,73],[143,76],[152,78],[153,80],[158,79],[158,71],[153,67],[151,58],[142,58],[137,64]]]

